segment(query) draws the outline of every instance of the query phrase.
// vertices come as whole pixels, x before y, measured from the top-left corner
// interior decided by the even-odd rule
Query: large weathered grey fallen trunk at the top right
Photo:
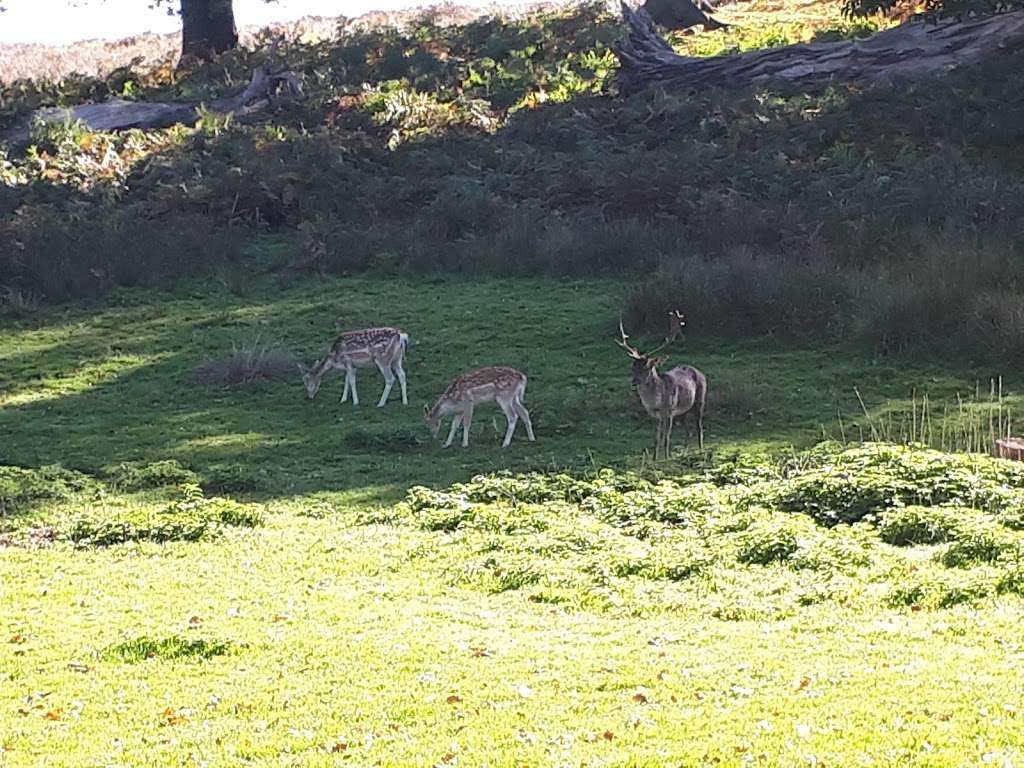
[[[620,90],[652,85],[703,88],[801,86],[828,81],[858,85],[922,80],[951,67],[1024,50],[1024,11],[939,25],[912,22],[865,41],[801,43],[730,56],[680,56],[650,16],[623,3],[629,37],[615,48]]]

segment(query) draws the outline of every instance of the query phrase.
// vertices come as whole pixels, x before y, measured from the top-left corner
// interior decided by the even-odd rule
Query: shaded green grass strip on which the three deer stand
[[[0,461],[63,463],[97,470],[121,461],[177,459],[217,478],[242,473],[275,497],[365,488],[395,498],[410,483],[441,484],[495,466],[621,463],[653,442],[653,427],[628,392],[629,366],[611,341],[629,286],[545,281],[331,281],[248,298],[125,295],[125,305],[44,313],[5,334],[0,359]],[[335,323],[389,322],[412,348],[409,409],[373,408],[380,377],[359,376],[364,406],[340,406],[340,380],[313,401],[298,381],[247,389],[197,388],[190,370],[231,345],[281,343],[309,362]],[[784,447],[838,426],[868,398],[970,389],[967,375],[905,362],[876,364],[840,347],[770,342],[723,345],[694,329],[673,361],[711,380],[709,442],[717,450]],[[459,372],[511,365],[529,377],[527,403],[541,439],[499,450],[487,417],[473,451],[439,459],[422,426],[422,404]],[[717,406],[716,406],[717,400]],[[369,406],[367,404],[369,403]],[[752,415],[753,412],[753,415]],[[500,420],[500,419],[499,419]],[[684,435],[677,444],[685,444]]]

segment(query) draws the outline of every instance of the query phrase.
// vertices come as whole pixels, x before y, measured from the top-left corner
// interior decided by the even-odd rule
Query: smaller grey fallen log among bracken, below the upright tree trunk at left
[[[289,96],[302,95],[299,76],[294,72],[270,72],[266,66],[253,70],[252,80],[246,89],[234,96],[216,99],[205,104],[219,115],[251,115],[270,104],[282,91]],[[92,131],[124,131],[131,128],[170,128],[173,125],[191,125],[199,119],[204,104],[197,101],[126,101],[112,98],[93,104],[36,110],[15,124],[3,136],[13,148],[31,140],[34,123],[63,123],[81,121]]]

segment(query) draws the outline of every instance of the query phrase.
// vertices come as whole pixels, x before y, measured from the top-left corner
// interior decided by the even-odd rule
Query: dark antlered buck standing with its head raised
[[[697,442],[703,450],[703,409],[708,396],[708,379],[702,373],[689,366],[676,366],[666,374],[658,373],[657,367],[665,357],[651,355],[665,346],[652,349],[647,354],[637,351],[629,344],[629,336],[618,321],[618,344],[633,360],[633,388],[640,395],[640,402],[648,416],[657,419],[657,435],[654,440],[654,459],[668,458],[672,447],[672,426],[677,416],[685,417],[696,407]],[[668,342],[666,342],[668,343]]]

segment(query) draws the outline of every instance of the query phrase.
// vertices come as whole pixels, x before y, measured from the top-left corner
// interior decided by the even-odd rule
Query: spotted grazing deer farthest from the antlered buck
[[[352,404],[359,404],[359,393],[355,389],[355,370],[377,366],[384,377],[384,392],[377,403],[383,408],[391,394],[395,378],[401,387],[401,402],[409,404],[406,393],[406,370],[401,367],[409,346],[409,335],[398,328],[368,328],[362,331],[346,331],[335,339],[330,351],[323,360],[316,360],[311,368],[299,364],[302,383],[306,385],[309,399],[316,396],[321,381],[332,369],[345,372],[345,388],[341,393],[341,401],[348,399],[352,393]]]

